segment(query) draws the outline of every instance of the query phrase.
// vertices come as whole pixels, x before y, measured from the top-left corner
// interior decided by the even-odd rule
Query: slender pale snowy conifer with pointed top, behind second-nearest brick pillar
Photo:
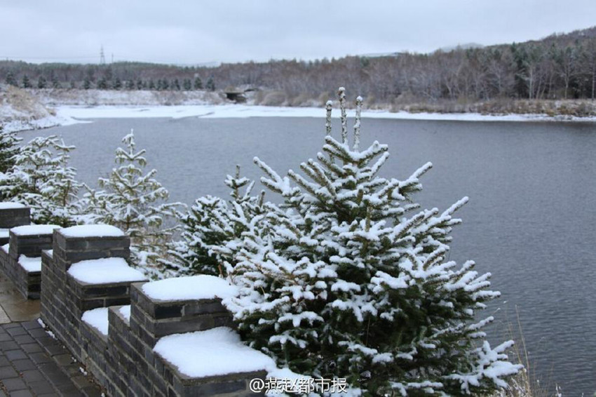
[[[169,193],[155,179],[156,170],[144,173],[145,150],[135,149],[133,131],[123,137],[126,145],[116,149],[116,163],[107,178],[100,178],[104,190],[88,189],[86,222],[111,224],[130,236],[134,266],[150,278],[163,278],[170,269],[162,262],[172,234],[177,230],[172,217],[180,203],[165,203]]]

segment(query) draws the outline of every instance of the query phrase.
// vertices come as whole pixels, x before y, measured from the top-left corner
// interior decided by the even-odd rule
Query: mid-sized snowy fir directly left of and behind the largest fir
[[[214,196],[200,197],[189,211],[178,214],[184,231],[170,253],[186,274],[232,274],[243,233],[266,213],[264,191],[251,196],[255,182],[241,177],[240,166],[224,183],[231,189],[229,202]]]

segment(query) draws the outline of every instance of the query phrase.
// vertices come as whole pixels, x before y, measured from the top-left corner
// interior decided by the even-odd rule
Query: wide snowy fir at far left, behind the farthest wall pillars
[[[8,147],[13,139],[7,138]],[[0,181],[1,196],[29,206],[36,223],[75,224],[81,184],[75,180],[76,170],[68,166],[73,149],[55,135],[34,138],[10,158],[13,165]]]

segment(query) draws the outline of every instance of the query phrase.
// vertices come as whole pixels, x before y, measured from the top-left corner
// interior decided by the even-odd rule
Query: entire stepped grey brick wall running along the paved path
[[[28,222],[28,209],[11,208],[12,220],[6,213],[3,217],[3,211],[0,207],[0,227]],[[114,274],[102,275],[110,271],[107,262],[128,260],[130,238],[120,231],[102,235],[100,229],[97,234],[89,232],[93,227],[54,229],[51,234],[11,231],[8,250],[0,249],[0,264],[27,297],[41,298],[43,322],[86,366],[107,396],[259,395],[250,391],[248,383],[250,379],[264,379],[264,370],[189,377],[154,351],[160,338],[168,335],[233,327],[231,315],[217,298],[156,300],[144,292],[144,282],[138,282],[139,278],[135,282],[119,280]],[[18,269],[23,269],[18,264],[20,255],[41,255],[41,271],[35,283],[18,274]],[[76,276],[73,269],[83,263],[94,269],[95,276],[102,277],[94,281],[93,277]],[[123,266],[128,267],[126,263]],[[25,274],[32,276],[31,272]],[[82,319],[90,311],[104,313],[100,308],[107,308],[107,334]],[[127,312],[123,308],[130,309]]]

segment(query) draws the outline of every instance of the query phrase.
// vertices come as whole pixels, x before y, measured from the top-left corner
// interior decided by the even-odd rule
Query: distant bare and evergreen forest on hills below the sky
[[[368,104],[502,98],[593,100],[596,27],[524,43],[456,48],[430,54],[271,60],[217,67],[137,62],[37,65],[0,61],[0,82],[25,88],[116,90],[252,87],[273,91],[280,102],[290,105],[292,98],[323,99],[339,86],[365,95]]]

